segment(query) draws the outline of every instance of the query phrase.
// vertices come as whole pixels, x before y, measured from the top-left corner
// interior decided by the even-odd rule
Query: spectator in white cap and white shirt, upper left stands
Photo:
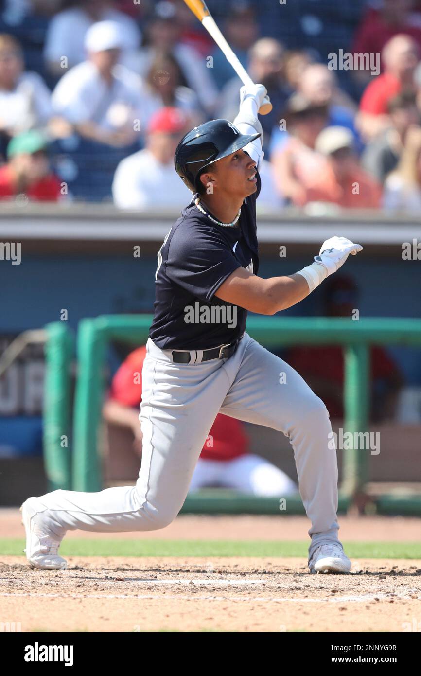
[[[86,32],[88,59],[74,66],[53,91],[53,107],[82,137],[114,146],[133,143],[141,130],[143,82],[118,63],[123,44],[116,22]]]

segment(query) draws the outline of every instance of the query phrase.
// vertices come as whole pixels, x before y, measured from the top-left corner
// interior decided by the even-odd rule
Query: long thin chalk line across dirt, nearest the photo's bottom
[[[374,601],[378,599],[379,601],[387,600],[390,601],[391,597],[387,594],[362,594],[362,596],[337,596],[335,598],[288,598],[288,597],[274,597],[274,596],[199,596],[194,594],[193,596],[182,596],[180,594],[166,594],[165,596],[157,596],[153,594],[36,594],[35,592],[0,592],[0,596],[5,597],[32,597],[32,598],[106,598],[106,599],[139,599],[139,600],[158,600],[162,601],[164,599],[178,599],[178,600],[187,600],[187,601],[249,601],[249,602],[266,602],[266,603],[363,603],[368,601]],[[393,600],[419,600],[421,596],[418,596],[418,599],[414,599],[412,596],[399,595],[394,596]]]

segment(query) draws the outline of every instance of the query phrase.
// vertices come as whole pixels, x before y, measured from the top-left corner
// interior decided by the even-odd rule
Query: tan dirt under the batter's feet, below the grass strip
[[[303,558],[68,563],[30,571],[3,557],[2,619],[22,631],[421,630],[421,560],[353,561],[350,575],[310,575]]]

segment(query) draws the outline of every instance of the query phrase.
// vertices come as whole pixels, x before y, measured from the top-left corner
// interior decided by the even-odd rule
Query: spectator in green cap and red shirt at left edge
[[[59,178],[51,172],[47,141],[31,130],[14,137],[7,146],[7,164],[0,167],[0,199],[26,195],[35,201],[61,198]]]

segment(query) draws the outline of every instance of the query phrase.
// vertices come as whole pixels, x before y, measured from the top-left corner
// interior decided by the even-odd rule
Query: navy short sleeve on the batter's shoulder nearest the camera
[[[216,231],[200,222],[178,227],[168,247],[168,278],[194,296],[209,303],[220,285],[241,264]]]

